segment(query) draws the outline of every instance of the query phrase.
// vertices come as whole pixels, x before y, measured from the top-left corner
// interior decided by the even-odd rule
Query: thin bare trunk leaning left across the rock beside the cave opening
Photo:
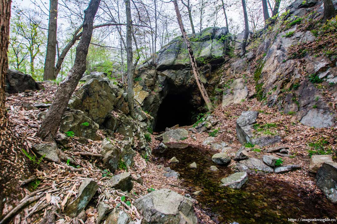
[[[185,42],[185,44],[187,46],[188,55],[189,55],[189,58],[191,60],[191,66],[192,66],[192,70],[193,70],[193,74],[194,74],[194,77],[195,77],[196,84],[199,87],[199,90],[201,92],[201,95],[202,95],[205,103],[206,103],[206,106],[207,106],[208,110],[212,110],[213,109],[213,105],[212,105],[212,103],[211,103],[211,101],[210,101],[210,99],[208,97],[207,91],[206,91],[203,83],[200,80],[200,76],[199,76],[199,72],[198,72],[198,67],[197,67],[197,64],[196,64],[196,61],[195,61],[195,58],[194,58],[194,55],[193,55],[193,50],[192,50],[191,44],[190,44],[190,42],[188,40],[187,34],[185,32],[183,21],[181,19],[181,15],[180,15],[180,12],[179,12],[178,2],[177,2],[177,0],[174,0],[173,3],[174,3],[174,8],[175,8],[176,14],[177,14],[179,28],[180,28],[181,34],[183,35],[184,42]]]

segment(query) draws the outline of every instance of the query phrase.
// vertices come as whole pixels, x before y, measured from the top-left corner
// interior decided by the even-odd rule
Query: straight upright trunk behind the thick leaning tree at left
[[[56,56],[56,32],[57,32],[57,1],[49,1],[49,27],[47,53],[45,55],[43,80],[54,80],[55,76],[55,56]]]

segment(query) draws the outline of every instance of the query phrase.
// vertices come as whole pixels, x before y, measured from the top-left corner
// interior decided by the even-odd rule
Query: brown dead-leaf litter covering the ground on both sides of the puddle
[[[41,121],[38,119],[38,114],[47,108],[40,109],[26,109],[23,107],[23,102],[29,104],[34,103],[50,103],[53,101],[55,96],[57,85],[55,83],[44,83],[44,90],[36,92],[25,92],[18,94],[11,94],[6,99],[6,108],[8,111],[9,120],[12,125],[12,129],[25,141],[28,148],[31,148],[34,144],[41,143],[41,139],[36,136],[38,128]],[[333,128],[320,128],[313,129],[306,127],[296,121],[295,117],[290,115],[280,114],[279,111],[269,108],[266,105],[262,105],[261,102],[256,99],[246,100],[241,104],[229,105],[226,108],[218,107],[212,114],[218,123],[213,129],[218,130],[218,135],[215,137],[218,141],[225,141],[232,147],[228,151],[228,154],[235,153],[241,144],[236,138],[236,119],[241,115],[242,111],[245,110],[256,110],[259,111],[259,116],[257,123],[275,123],[276,127],[272,128],[273,132],[276,132],[281,136],[282,141],[272,145],[261,148],[260,152],[250,151],[252,157],[261,159],[266,153],[263,149],[273,146],[285,145],[289,147],[290,157],[283,157],[282,165],[297,164],[301,165],[302,169],[285,174],[267,174],[267,177],[275,178],[279,181],[284,181],[286,183],[293,184],[294,187],[302,188],[307,191],[308,194],[317,193],[321,194],[321,191],[315,185],[315,179],[309,175],[308,168],[310,162],[310,156],[308,155],[308,150],[312,149],[308,145],[309,143],[321,144],[323,148],[331,147],[334,151],[337,145],[337,130],[336,127]],[[183,127],[188,130],[191,126]],[[188,143],[193,146],[209,148],[209,146],[204,146],[203,141],[209,137],[206,132],[193,134],[196,136],[196,140],[190,138],[193,134],[189,132],[189,137],[185,140],[181,140],[181,143]],[[114,141],[118,144],[118,141],[122,139],[122,136],[116,135]],[[154,149],[160,143],[155,140],[156,136],[151,136],[152,142],[151,147]],[[323,141],[324,140],[324,141]],[[322,143],[323,142],[323,143]],[[37,220],[43,219],[43,214],[50,212],[55,209],[55,206],[63,210],[67,201],[70,200],[71,196],[78,193],[78,188],[80,182],[87,178],[93,178],[98,184],[100,193],[100,198],[96,203],[98,204],[101,200],[107,200],[101,197],[104,192],[109,192],[113,195],[108,199],[108,203],[111,207],[116,207],[120,203],[120,196],[125,195],[123,192],[117,190],[111,190],[109,187],[110,173],[106,173],[100,169],[100,163],[94,156],[81,156],[77,155],[76,151],[86,151],[89,153],[99,153],[100,152],[101,141],[91,141],[88,144],[81,144],[78,142],[78,138],[73,137],[69,139],[66,148],[63,148],[63,152],[73,158],[79,167],[83,169],[81,173],[71,172],[65,167],[42,160],[40,164],[36,165],[36,173],[32,176],[37,177],[37,180],[30,183],[27,188],[25,188],[27,195],[32,194],[45,194],[42,196],[37,203],[25,208],[23,212],[15,218],[15,223],[33,223]],[[33,155],[32,151],[28,151]],[[133,219],[139,218],[139,211],[132,205],[134,199],[148,193],[148,190],[168,188],[172,189],[182,195],[188,192],[184,188],[180,180],[173,177],[166,178],[163,176],[163,169],[157,168],[157,164],[151,162],[150,159],[144,159],[139,153],[136,153],[134,157],[134,167],[129,169],[132,176],[140,175],[143,179],[143,185],[134,182],[134,186],[130,194],[126,194],[127,200],[131,201],[131,206],[128,207],[124,204],[120,206],[121,209],[125,210],[130,217]],[[229,165],[229,167],[234,167],[235,162]],[[118,174],[122,171],[117,171]],[[33,192],[33,193],[32,193]],[[103,193],[103,194],[102,194]],[[91,207],[86,210],[87,220],[94,223],[97,218],[97,204],[90,205]],[[11,208],[7,208],[7,211]],[[213,223],[210,218],[205,215],[205,213],[197,208],[195,208],[198,218],[202,223]],[[5,211],[6,213],[6,211]],[[72,218],[64,215],[57,214],[56,223],[70,223],[73,221]]]

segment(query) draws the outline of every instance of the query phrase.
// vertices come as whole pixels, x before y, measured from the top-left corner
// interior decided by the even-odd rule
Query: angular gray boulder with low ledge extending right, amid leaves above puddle
[[[252,124],[256,123],[257,111],[243,111],[236,120],[236,136],[241,144],[252,143],[254,145],[266,146],[281,141],[279,135],[269,136],[253,134]]]

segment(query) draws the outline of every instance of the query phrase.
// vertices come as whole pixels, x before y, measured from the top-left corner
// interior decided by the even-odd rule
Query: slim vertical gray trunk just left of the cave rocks
[[[133,62],[132,62],[132,18],[130,0],[125,0],[126,12],[126,61],[127,61],[127,95],[129,113],[132,118],[134,114],[134,93],[133,93]]]

